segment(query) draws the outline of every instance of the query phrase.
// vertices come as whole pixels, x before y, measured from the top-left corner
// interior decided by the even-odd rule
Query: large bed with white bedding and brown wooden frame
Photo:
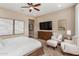
[[[0,56],[37,56],[42,55],[40,41],[25,36],[0,40]]]

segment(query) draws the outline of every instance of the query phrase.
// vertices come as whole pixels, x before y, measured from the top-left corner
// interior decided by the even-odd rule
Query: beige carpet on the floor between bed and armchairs
[[[52,47],[48,47],[46,45],[46,41],[39,39],[39,41],[43,44],[44,55],[43,56],[68,56],[68,54],[64,54],[61,52],[61,47],[58,46],[56,49]]]

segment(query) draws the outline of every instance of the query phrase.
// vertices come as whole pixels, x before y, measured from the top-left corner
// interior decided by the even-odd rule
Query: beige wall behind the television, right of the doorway
[[[72,31],[72,35],[75,33],[75,8],[70,7],[66,8],[54,13],[46,14],[40,17],[37,17],[35,20],[35,37],[37,37],[37,31],[39,31],[39,22],[43,21],[52,21],[53,22],[53,30],[52,32],[58,31],[58,20],[66,20],[67,21],[67,30]]]

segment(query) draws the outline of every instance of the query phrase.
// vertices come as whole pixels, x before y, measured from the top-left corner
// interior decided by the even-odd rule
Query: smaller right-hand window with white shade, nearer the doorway
[[[24,21],[15,20],[15,34],[24,33]]]

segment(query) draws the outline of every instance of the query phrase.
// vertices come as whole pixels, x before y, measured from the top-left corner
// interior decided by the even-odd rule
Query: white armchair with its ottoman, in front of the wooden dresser
[[[62,35],[59,33],[54,33],[53,36],[51,36],[51,39],[47,40],[47,45],[52,47],[57,47],[58,43],[62,41]]]

